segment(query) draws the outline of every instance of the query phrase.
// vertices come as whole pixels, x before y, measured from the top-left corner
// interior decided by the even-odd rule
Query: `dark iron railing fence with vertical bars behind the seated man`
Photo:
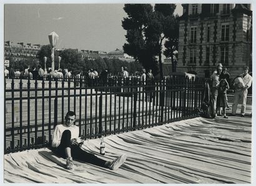
[[[51,144],[55,125],[68,110],[86,139],[118,134],[196,117],[204,79],[163,81],[113,78],[5,79],[5,153]]]

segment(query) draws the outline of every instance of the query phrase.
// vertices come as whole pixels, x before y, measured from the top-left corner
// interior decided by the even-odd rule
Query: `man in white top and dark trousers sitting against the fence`
[[[106,161],[99,159],[94,154],[90,154],[80,147],[83,140],[79,138],[79,127],[74,125],[76,113],[69,111],[66,114],[65,124],[56,125],[52,135],[52,151],[66,159],[66,169],[73,169],[73,159],[81,160],[89,164],[106,167],[111,170],[118,169],[126,161],[126,154],[115,160]]]

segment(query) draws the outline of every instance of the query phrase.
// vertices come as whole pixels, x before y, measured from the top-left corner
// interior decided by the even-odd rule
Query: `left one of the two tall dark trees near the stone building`
[[[122,21],[122,27],[127,31],[124,52],[137,59],[146,69],[151,68],[154,74],[157,74],[156,54],[150,47],[152,42],[145,37],[145,29],[153,13],[152,5],[125,4],[124,11],[128,16]]]

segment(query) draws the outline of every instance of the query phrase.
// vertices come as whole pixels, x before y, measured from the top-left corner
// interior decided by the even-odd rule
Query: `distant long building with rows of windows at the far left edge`
[[[25,44],[24,42],[14,44],[14,42],[6,41],[4,42],[4,59],[12,61],[20,61],[27,58],[36,59],[40,49],[40,44]]]

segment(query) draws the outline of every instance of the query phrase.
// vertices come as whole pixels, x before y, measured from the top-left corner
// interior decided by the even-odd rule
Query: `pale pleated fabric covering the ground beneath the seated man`
[[[126,164],[116,171],[77,161],[73,171],[66,170],[65,160],[49,149],[4,155],[4,181],[247,184],[251,182],[251,119],[249,115],[229,119],[198,117],[110,135],[105,138],[104,156],[99,155],[100,139],[87,140],[84,150],[102,159],[127,154]]]

